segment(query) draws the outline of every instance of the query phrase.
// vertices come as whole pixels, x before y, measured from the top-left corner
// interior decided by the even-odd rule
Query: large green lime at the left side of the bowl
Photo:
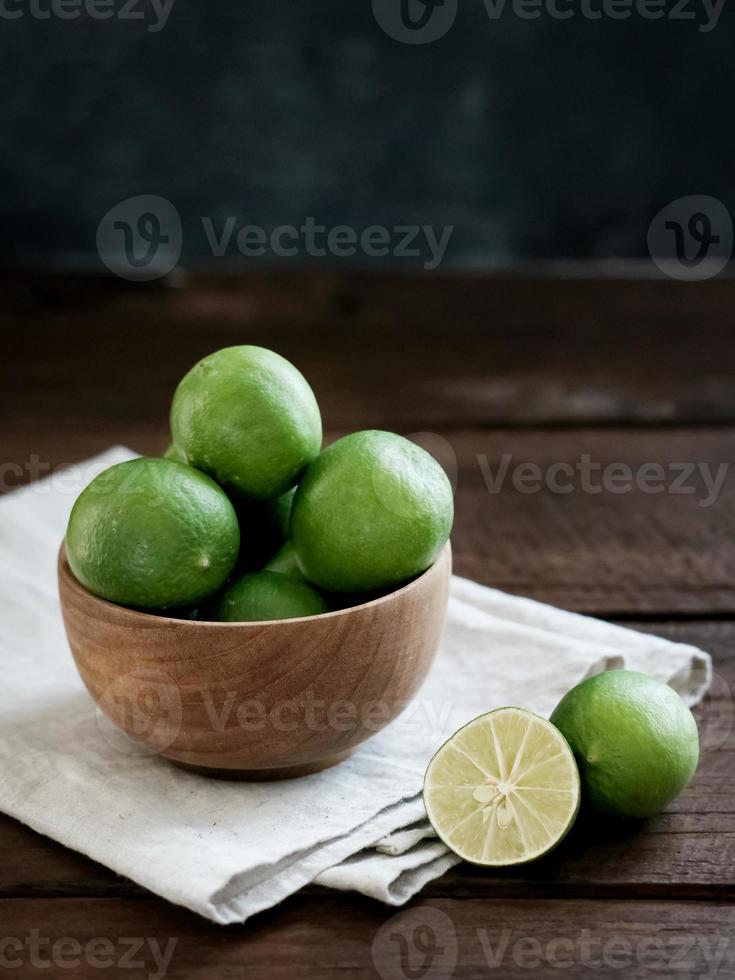
[[[69,518],[66,553],[79,581],[124,606],[194,606],[227,580],[240,531],[227,494],[171,459],[133,459],[100,473]]]

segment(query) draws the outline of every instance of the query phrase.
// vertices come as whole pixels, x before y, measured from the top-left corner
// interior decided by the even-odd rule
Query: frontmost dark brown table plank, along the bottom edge
[[[325,896],[224,929],[162,902],[0,900],[0,917],[18,980],[49,964],[77,980],[735,975],[732,907],[696,902],[432,899],[396,913]]]

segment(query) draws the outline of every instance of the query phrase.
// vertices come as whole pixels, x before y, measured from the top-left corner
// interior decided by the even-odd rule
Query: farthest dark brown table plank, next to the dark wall
[[[34,428],[163,424],[183,373],[237,343],[292,359],[333,429],[735,419],[730,280],[47,277],[0,298],[5,411]]]

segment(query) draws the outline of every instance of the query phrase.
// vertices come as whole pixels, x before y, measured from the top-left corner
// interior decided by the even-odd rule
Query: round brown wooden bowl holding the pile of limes
[[[434,658],[451,565],[447,544],[428,571],[359,606],[208,623],[99,599],[62,545],[59,594],[82,680],[139,750],[208,775],[278,779],[334,765],[401,712]]]

